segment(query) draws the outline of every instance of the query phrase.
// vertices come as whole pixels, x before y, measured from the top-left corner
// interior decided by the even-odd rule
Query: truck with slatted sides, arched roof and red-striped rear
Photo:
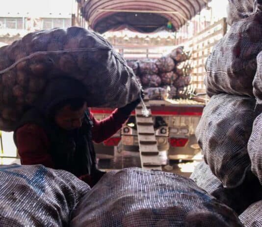
[[[132,31],[140,31],[142,33],[135,33],[129,35],[125,30],[121,30],[118,33],[114,33],[111,30],[118,30],[117,25],[114,24],[114,20],[108,21],[110,24],[105,24],[105,19],[109,15],[118,15],[121,20],[123,15],[135,15],[136,20],[145,16],[159,15],[156,11],[152,11],[151,6],[145,3],[143,12],[139,9],[132,9],[131,11],[125,7],[125,2],[116,1],[118,8],[115,9],[112,4],[110,10],[104,7],[104,1],[101,4],[96,5],[93,1],[77,1],[78,11],[76,15],[73,15],[73,23],[85,28],[91,28],[98,31],[103,35],[114,48],[122,54],[126,59],[143,59],[143,58],[159,58],[166,51],[171,51],[173,48],[183,46],[185,50],[189,50],[191,60],[193,62],[192,72],[192,85],[195,88],[195,94],[204,94],[205,85],[205,61],[212,51],[213,46],[221,37],[227,32],[226,18],[222,18],[213,23],[210,21],[201,22],[200,17],[188,18],[186,25],[180,26],[180,32],[171,31],[166,37],[162,37],[159,32],[148,31],[153,29],[153,26],[139,25],[135,27],[133,25]],[[172,3],[170,3],[172,5]],[[171,6],[170,5],[170,6]],[[200,5],[199,5],[200,6]],[[122,7],[122,8],[121,8]],[[198,10],[201,11],[202,7],[207,7],[210,10],[212,16],[212,9],[205,5],[201,5]],[[120,9],[121,8],[121,9]],[[91,10],[92,9],[92,10]],[[97,11],[96,11],[97,10]],[[121,11],[121,12],[120,12]],[[207,12],[207,11],[206,11]],[[172,15],[171,11],[162,12],[162,16]],[[205,13],[205,12],[204,12]],[[201,14],[201,13],[200,13]],[[196,11],[195,14],[196,15]],[[172,15],[173,16],[173,15]],[[180,17],[180,14],[177,14]],[[205,14],[202,18],[207,18]],[[105,18],[104,18],[105,17]],[[183,19],[183,17],[182,17]],[[158,20],[158,19],[157,19]],[[176,19],[173,18],[174,22]],[[139,22],[139,21],[138,21]],[[121,24],[121,21],[118,21]],[[164,26],[164,23],[162,26]],[[188,35],[188,25],[191,23],[193,26],[193,35]],[[174,25],[174,24],[173,24]],[[123,25],[124,26],[124,25]],[[143,28],[142,28],[143,27]],[[110,33],[111,32],[111,33]],[[151,33],[148,33],[151,32]],[[173,37],[171,34],[174,34]],[[180,100],[150,100],[149,106],[152,113],[152,119],[154,122],[154,131],[157,142],[157,149],[161,152],[166,152],[167,163],[180,161],[192,161],[202,159],[201,149],[197,144],[195,138],[195,130],[198,122],[201,118],[203,109],[208,102],[207,96],[201,98],[192,99],[180,99]],[[108,116],[113,110],[108,108],[92,108],[91,112],[97,119],[103,119]],[[121,151],[139,152],[139,140],[137,134],[136,115],[133,112],[125,123],[123,128],[119,130],[113,137],[107,141],[95,144],[96,152],[98,153],[99,162],[111,163],[110,160],[114,159],[115,154]]]

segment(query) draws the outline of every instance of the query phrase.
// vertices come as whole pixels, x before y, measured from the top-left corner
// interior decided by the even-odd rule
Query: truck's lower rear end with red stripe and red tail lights
[[[159,151],[167,152],[168,162],[193,161],[201,159],[200,147],[195,130],[201,118],[205,103],[193,100],[150,100],[150,109]],[[91,108],[97,119],[107,117],[113,109]],[[95,144],[99,160],[113,159],[116,151],[139,152],[135,112],[132,112],[123,128],[113,137]]]

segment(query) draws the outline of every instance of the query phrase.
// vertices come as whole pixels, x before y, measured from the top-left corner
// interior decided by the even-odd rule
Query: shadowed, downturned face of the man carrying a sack
[[[60,128],[65,130],[74,130],[80,128],[86,109],[86,103],[84,103],[82,108],[77,111],[72,111],[70,105],[66,105],[55,114],[55,123]]]

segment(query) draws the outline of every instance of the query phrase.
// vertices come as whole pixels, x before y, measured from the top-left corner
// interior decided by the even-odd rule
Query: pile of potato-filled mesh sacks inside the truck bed
[[[158,59],[128,60],[128,65],[143,87],[168,89],[168,98],[184,98],[191,83],[190,55],[182,47]],[[152,89],[150,89],[152,91]],[[155,93],[158,91],[156,90]]]

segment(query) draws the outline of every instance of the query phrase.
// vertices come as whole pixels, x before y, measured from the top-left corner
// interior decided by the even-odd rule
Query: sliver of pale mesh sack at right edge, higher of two
[[[253,92],[256,96],[257,103],[262,105],[262,52],[257,57],[257,72],[253,81]]]

